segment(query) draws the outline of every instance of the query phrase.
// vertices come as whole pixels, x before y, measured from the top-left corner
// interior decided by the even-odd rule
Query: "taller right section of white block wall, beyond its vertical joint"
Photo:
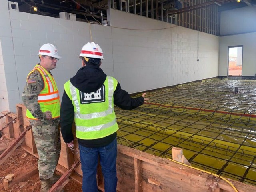
[[[218,36],[108,11],[114,75],[129,93],[218,76]]]

